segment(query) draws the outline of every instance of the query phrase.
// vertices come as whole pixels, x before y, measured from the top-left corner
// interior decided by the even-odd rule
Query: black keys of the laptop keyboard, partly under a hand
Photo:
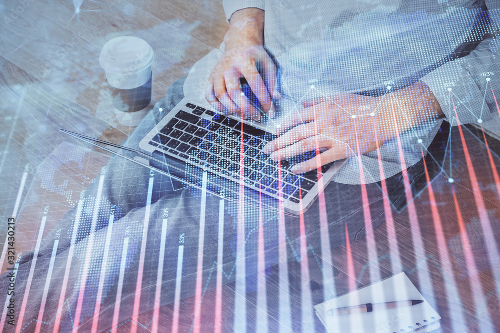
[[[186,109],[189,111],[178,111],[149,144],[236,181],[242,174],[246,185],[294,203],[307,196],[330,167],[323,165],[320,172],[296,175],[289,169],[315,152],[278,163],[262,152],[276,135],[192,103],[187,103]],[[210,119],[200,117],[203,113]]]

